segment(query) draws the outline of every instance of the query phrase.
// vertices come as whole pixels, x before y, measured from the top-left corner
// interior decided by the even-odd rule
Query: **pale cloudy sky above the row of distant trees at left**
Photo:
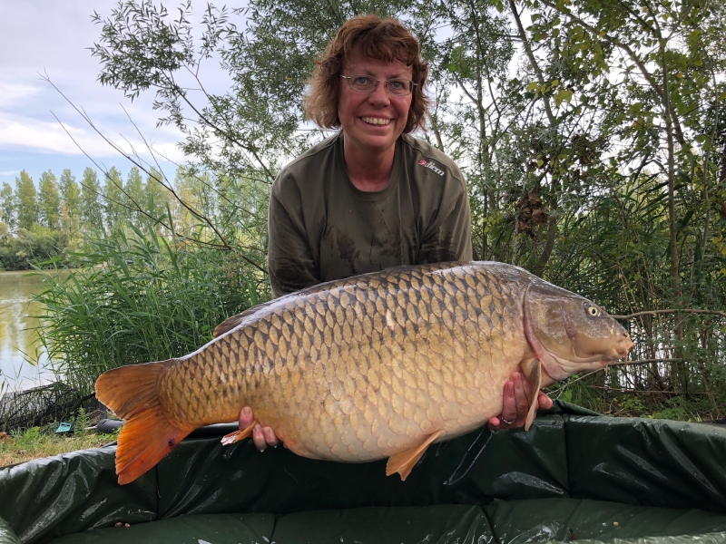
[[[124,177],[131,167],[51,85],[41,81],[39,73],[47,73],[114,141],[123,142],[125,137],[139,142],[123,104],[155,148],[182,160],[176,147],[179,133],[155,128],[151,94],[132,103],[123,92],[96,81],[100,65],[88,48],[98,41],[101,29],[91,15],[95,10],[108,16],[114,5],[115,0],[0,0],[0,184],[7,181],[15,187],[15,178],[24,169],[37,183],[44,170],[60,177],[70,168],[80,179],[85,167],[93,167],[54,114],[94,160],[106,167],[115,165]],[[174,167],[164,170],[173,175]]]

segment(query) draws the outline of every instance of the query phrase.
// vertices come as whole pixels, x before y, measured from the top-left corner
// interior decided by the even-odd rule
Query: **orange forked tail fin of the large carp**
[[[101,374],[96,381],[96,398],[126,420],[116,449],[121,485],[152,469],[193,431],[173,425],[163,413],[157,384],[170,363],[122,366]]]

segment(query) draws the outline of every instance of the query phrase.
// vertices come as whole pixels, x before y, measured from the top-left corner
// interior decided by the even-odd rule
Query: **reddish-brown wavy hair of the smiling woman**
[[[408,29],[396,19],[381,20],[378,15],[358,15],[338,30],[316,60],[318,67],[309,80],[305,109],[309,119],[326,129],[338,128],[338,89],[340,72],[346,61],[356,53],[369,59],[391,63],[399,61],[411,66],[414,86],[411,107],[404,132],[426,128],[428,99],[424,85],[428,65],[421,60],[421,46]]]

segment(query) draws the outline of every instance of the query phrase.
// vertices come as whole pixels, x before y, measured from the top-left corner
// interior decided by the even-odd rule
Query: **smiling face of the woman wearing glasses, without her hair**
[[[355,55],[341,75],[372,75],[380,80],[374,92],[353,91],[341,78],[338,92],[338,118],[346,144],[358,151],[388,151],[406,128],[412,95],[395,96],[386,91],[385,80],[412,79],[411,67]]]

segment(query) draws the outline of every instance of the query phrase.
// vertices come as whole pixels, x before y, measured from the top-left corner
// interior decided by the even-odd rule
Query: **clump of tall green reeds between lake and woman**
[[[153,228],[117,229],[75,254],[82,267],[35,296],[55,374],[83,394],[99,374],[162,361],[209,342],[227,317],[270,297],[234,251],[171,243]]]

